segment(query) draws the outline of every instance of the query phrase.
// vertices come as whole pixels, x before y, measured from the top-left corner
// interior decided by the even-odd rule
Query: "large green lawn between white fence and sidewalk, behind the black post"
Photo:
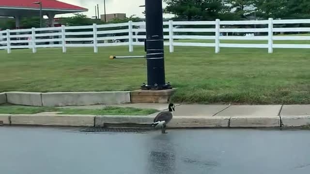
[[[168,49],[166,47],[166,49]],[[173,102],[310,103],[310,50],[175,47],[166,50],[166,79],[178,87]],[[116,91],[138,89],[146,82],[143,47],[61,48],[0,51],[1,91]]]

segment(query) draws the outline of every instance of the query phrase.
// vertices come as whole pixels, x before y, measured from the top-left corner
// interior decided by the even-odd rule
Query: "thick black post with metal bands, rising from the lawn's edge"
[[[145,0],[147,85],[142,89],[171,89],[165,81],[162,0]]]

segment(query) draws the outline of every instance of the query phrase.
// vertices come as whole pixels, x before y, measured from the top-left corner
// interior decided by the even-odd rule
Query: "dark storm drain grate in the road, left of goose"
[[[150,129],[135,128],[86,128],[79,130],[80,132],[121,132],[121,133],[148,133]]]

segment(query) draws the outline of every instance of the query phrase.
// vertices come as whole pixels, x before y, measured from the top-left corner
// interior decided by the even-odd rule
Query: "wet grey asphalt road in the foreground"
[[[0,127],[0,174],[309,174],[310,131]]]

